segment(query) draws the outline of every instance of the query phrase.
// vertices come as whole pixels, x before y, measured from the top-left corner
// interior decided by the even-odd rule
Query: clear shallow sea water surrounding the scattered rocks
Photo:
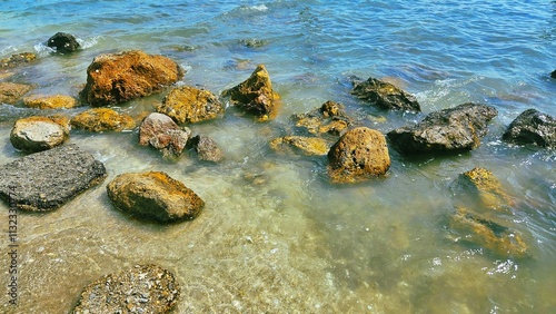
[[[83,49],[54,55],[46,41],[75,35]],[[140,49],[176,60],[179,85],[217,95],[264,63],[281,96],[278,117],[256,122],[235,108],[188,125],[226,159],[178,160],[138,145],[138,131],[72,130],[105,163],[106,181],[58,210],[18,215],[18,306],[2,313],[68,313],[102,275],[155,263],[176,274],[175,313],[556,313],[556,154],[500,140],[520,112],[556,116],[556,1],[0,1],[0,58],[38,53],[2,80],[32,94],[76,96],[101,53]],[[384,111],[350,95],[350,77],[375,77],[415,95],[421,114]],[[140,120],[160,95],[113,108]],[[383,178],[328,180],[326,157],[276,154],[290,117],[327,100],[357,126],[388,133],[426,114],[474,101],[496,107],[481,145],[455,155],[401,156]],[[48,111],[73,116],[88,109]],[[13,121],[46,112],[0,106],[0,164],[22,153]],[[494,212],[461,189],[461,173],[490,170],[512,202]],[[150,224],[111,206],[117,175],[161,170],[201,196],[195,220]],[[0,205],[0,284],[7,291],[8,205]],[[514,229],[530,257],[466,244],[448,223],[467,207]],[[463,236],[465,239],[465,235]],[[6,254],[3,254],[6,252]]]

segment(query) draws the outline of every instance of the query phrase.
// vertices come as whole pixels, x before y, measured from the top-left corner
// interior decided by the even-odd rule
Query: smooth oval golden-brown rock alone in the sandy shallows
[[[191,189],[160,171],[119,175],[107,192],[118,209],[158,222],[192,219],[205,206]]]

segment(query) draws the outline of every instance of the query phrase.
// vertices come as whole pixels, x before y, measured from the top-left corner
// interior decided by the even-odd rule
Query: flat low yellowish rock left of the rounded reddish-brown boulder
[[[276,151],[298,150],[307,156],[325,156],[330,147],[328,143],[318,137],[285,136],[270,141],[270,147]]]

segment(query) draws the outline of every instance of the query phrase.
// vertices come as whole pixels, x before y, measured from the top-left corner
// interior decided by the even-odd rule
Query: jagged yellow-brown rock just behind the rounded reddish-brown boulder
[[[344,105],[331,100],[307,114],[294,115],[292,118],[297,127],[306,128],[311,134],[340,135],[351,125],[351,118],[346,114]]]

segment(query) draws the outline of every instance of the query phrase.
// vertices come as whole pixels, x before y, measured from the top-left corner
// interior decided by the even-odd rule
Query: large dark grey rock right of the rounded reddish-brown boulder
[[[391,144],[405,154],[470,150],[487,134],[487,121],[498,115],[494,107],[464,104],[429,114],[414,126],[388,133]]]

